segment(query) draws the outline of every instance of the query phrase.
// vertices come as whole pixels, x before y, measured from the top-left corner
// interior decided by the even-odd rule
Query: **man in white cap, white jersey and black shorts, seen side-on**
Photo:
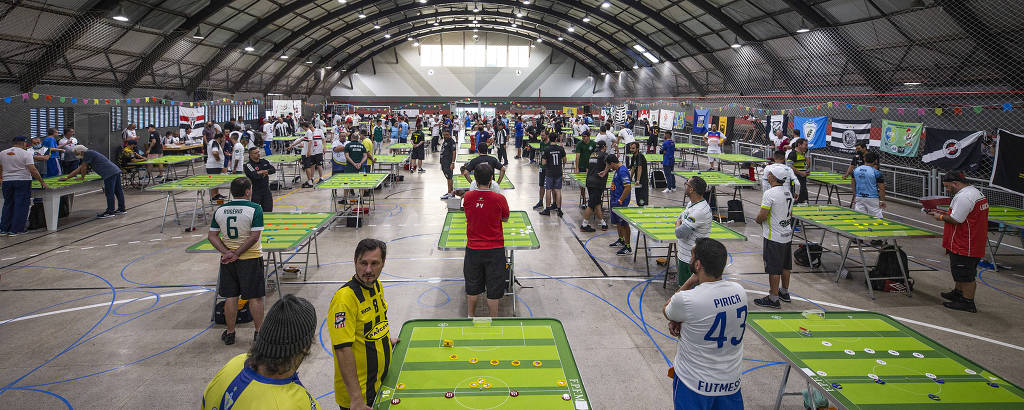
[[[788,173],[775,168],[768,174],[771,188],[761,196],[761,212],[755,218],[761,223],[764,238],[763,258],[768,274],[768,295],[754,299],[762,308],[781,309],[779,300],[790,299],[790,271],[793,270],[793,194],[782,180]],[[779,282],[781,281],[781,287]]]

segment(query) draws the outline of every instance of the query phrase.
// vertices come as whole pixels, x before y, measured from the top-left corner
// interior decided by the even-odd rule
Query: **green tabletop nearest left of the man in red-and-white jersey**
[[[885,218],[874,218],[836,205],[793,207],[793,216],[827,231],[855,239],[935,238],[942,234],[922,230]]]

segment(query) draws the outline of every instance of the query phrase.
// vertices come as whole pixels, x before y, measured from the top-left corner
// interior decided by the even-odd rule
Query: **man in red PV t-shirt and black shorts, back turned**
[[[505,234],[502,222],[509,220],[509,203],[505,196],[492,191],[495,170],[486,163],[473,169],[476,190],[466,193],[462,207],[466,212],[466,311],[476,316],[476,299],[487,291],[487,314],[498,316],[498,302],[505,295]],[[496,187],[497,188],[497,187]]]

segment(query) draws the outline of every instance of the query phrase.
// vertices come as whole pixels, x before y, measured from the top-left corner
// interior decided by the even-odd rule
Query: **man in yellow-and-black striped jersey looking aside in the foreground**
[[[387,245],[364,239],[355,247],[355,275],[334,293],[328,320],[334,345],[334,397],[342,409],[369,409],[387,375],[393,342],[387,301],[378,281]]]

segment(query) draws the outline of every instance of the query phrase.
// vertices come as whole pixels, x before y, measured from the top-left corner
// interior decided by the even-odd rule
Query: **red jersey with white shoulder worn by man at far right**
[[[949,217],[959,224],[945,223],[942,247],[962,256],[984,257],[988,242],[988,200],[975,187],[965,187],[949,203]]]

